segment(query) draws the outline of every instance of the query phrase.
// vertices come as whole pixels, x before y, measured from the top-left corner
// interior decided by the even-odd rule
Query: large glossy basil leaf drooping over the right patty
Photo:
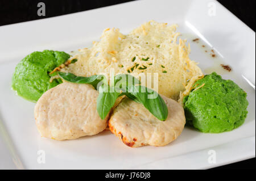
[[[168,108],[161,96],[152,89],[141,85],[128,87],[128,92],[124,93],[127,97],[142,103],[148,111],[161,121],[167,119]]]

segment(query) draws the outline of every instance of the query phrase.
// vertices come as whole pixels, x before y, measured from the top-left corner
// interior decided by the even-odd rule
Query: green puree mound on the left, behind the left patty
[[[65,52],[44,50],[33,52],[16,65],[12,87],[18,95],[36,102],[47,90],[61,83],[61,79],[49,82],[49,73],[70,57]],[[56,75],[56,74],[55,74]]]

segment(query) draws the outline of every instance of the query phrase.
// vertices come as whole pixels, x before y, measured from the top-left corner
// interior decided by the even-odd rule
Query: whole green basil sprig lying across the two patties
[[[118,74],[114,82],[108,85],[104,75],[93,75],[91,77],[77,77],[72,73],[59,72],[61,78],[73,83],[87,83],[99,91],[97,98],[97,112],[101,119],[105,119],[115,100],[119,96],[126,95],[137,103],[143,104],[148,111],[161,121],[167,119],[168,108],[161,96],[154,90],[141,86],[141,82],[130,74]]]

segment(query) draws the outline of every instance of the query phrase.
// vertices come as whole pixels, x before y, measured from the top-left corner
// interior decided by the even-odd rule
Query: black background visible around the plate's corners
[[[130,0],[133,1],[133,0]],[[177,0],[178,1],[178,0]],[[38,3],[46,4],[46,16],[38,16]],[[0,0],[0,26],[49,18],[98,7],[129,2],[127,0]],[[255,0],[218,0],[229,11],[255,31]],[[0,40],[1,41],[1,40]],[[255,158],[215,169],[255,169]]]

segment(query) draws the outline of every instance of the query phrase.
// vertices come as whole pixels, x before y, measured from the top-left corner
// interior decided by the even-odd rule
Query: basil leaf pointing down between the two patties
[[[101,119],[105,119],[120,94],[119,92],[110,91],[111,88],[108,84],[102,84],[98,89],[97,112]]]

